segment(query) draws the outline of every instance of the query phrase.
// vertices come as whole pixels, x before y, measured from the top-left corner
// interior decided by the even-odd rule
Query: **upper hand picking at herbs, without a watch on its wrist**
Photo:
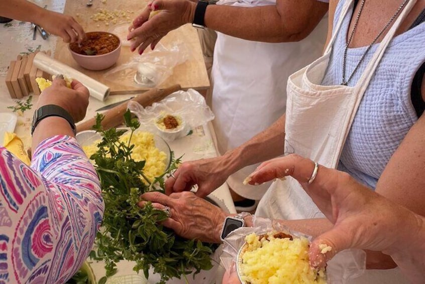
[[[196,196],[205,197],[229,177],[226,167],[221,166],[221,157],[200,159],[182,163],[171,176],[165,181],[165,193],[190,191],[197,184]]]

